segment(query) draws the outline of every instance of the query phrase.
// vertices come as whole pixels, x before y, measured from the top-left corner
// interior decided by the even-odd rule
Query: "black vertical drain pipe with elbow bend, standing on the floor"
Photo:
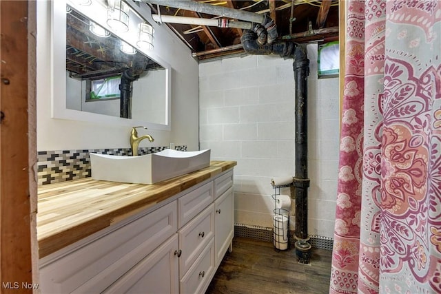
[[[254,32],[245,31],[240,38],[245,52],[249,54],[265,55],[278,54],[294,59],[294,81],[296,95],[296,175],[291,195],[296,200],[296,255],[298,262],[307,264],[311,260],[311,244],[308,236],[308,136],[307,136],[307,78],[309,75],[309,60],[305,48],[295,43],[267,43],[260,45]]]

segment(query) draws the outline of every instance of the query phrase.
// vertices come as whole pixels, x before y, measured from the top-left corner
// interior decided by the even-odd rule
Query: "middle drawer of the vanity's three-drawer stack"
[[[178,235],[179,249],[182,250],[179,277],[183,277],[214,236],[214,204],[209,205],[196,218],[185,224],[178,231]]]

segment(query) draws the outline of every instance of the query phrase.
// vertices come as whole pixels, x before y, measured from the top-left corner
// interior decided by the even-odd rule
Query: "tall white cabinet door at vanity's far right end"
[[[214,250],[216,267],[220,263],[234,236],[234,193],[230,187],[214,202]]]

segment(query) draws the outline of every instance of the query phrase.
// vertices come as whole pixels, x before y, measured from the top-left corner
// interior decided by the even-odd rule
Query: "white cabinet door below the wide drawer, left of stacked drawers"
[[[136,264],[103,293],[178,293],[178,234]]]

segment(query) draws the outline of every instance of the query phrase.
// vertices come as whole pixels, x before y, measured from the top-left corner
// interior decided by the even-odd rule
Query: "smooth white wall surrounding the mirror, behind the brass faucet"
[[[172,142],[197,150],[198,63],[166,25],[157,25],[154,37],[154,54],[172,66],[172,130],[149,130],[154,142],[143,140],[140,147],[166,146]],[[130,147],[130,127],[50,118],[50,56],[50,1],[38,1],[37,150]]]

